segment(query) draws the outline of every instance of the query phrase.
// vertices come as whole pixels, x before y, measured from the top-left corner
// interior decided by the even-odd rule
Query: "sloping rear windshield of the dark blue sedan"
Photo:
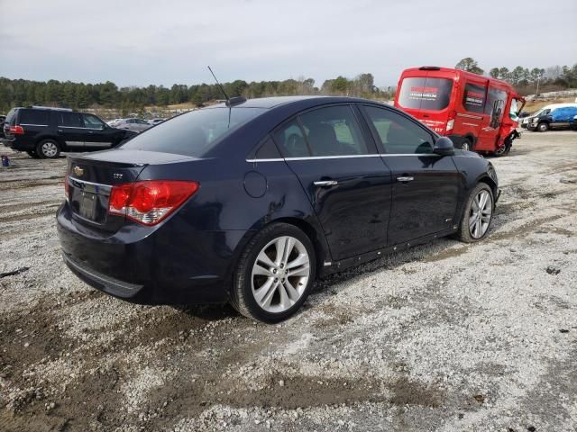
[[[205,108],[179,115],[142,132],[122,148],[203,157],[217,139],[264,112],[261,108]]]

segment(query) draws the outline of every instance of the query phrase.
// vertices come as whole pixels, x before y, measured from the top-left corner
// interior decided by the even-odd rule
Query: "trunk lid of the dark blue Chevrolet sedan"
[[[108,213],[110,191],[115,184],[135,182],[146,166],[190,159],[194,157],[122,148],[69,156],[70,209],[79,223],[115,232],[125,222],[124,216]]]

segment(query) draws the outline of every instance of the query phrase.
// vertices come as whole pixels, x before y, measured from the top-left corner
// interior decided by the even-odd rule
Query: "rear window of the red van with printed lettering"
[[[398,104],[413,110],[444,110],[449,105],[452,89],[452,79],[405,78],[398,90]]]

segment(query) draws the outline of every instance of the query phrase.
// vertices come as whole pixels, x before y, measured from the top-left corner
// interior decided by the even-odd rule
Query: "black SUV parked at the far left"
[[[60,151],[113,148],[136,135],[111,128],[94,114],[41,106],[13,108],[3,129],[5,146],[41,158],[58,157]]]

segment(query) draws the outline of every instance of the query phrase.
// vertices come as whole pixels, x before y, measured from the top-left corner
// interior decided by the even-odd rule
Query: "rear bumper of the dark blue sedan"
[[[188,230],[175,219],[105,233],[78,221],[65,202],[57,215],[64,261],[90,286],[128,302],[227,302],[250,232]]]

